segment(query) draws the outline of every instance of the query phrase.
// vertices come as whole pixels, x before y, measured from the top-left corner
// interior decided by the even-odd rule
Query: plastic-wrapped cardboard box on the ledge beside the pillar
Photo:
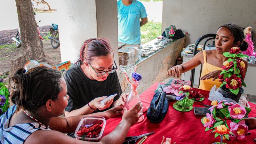
[[[128,66],[139,60],[140,45],[125,44],[118,50],[120,66]]]

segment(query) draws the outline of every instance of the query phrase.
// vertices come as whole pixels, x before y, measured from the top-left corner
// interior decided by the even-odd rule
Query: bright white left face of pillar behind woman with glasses
[[[84,40],[97,38],[95,0],[60,0],[57,7],[61,62],[76,62]]]

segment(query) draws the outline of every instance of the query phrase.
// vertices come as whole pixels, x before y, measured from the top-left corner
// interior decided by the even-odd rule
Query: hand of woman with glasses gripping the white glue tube
[[[105,105],[102,106],[100,102],[101,102],[101,100],[104,100],[106,98],[107,98],[107,96],[95,98],[94,100],[92,100],[90,102],[90,106],[92,108],[94,108],[94,109],[98,108],[99,110],[103,110],[103,109],[109,108],[114,99],[108,101]]]

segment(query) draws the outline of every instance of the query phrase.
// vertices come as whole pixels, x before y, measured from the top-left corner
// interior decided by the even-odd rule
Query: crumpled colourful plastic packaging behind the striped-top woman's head
[[[26,72],[27,72],[29,69],[35,68],[35,67],[38,67],[38,66],[45,66],[45,67],[57,69],[61,72],[62,75],[64,75],[65,71],[67,71],[69,68],[74,66],[74,64],[71,63],[70,60],[69,60],[69,61],[63,62],[59,65],[56,65],[56,66],[50,66],[47,63],[39,63],[36,60],[28,60],[28,62],[25,64],[24,68],[26,69]]]

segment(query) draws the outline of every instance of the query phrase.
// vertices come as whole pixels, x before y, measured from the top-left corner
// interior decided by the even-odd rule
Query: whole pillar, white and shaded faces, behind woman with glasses
[[[60,0],[59,36],[61,61],[76,62],[84,40],[107,38],[118,63],[117,2],[115,0]]]

